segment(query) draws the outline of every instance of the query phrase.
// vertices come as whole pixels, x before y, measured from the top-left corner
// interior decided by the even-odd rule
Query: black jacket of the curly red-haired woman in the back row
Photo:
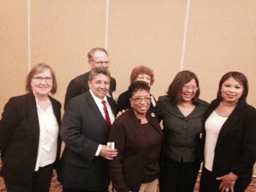
[[[130,96],[129,90],[127,90],[126,92],[122,93],[118,97],[118,99],[117,99],[117,111],[118,112],[122,111],[123,109],[126,110],[126,109],[130,108],[130,100],[129,100],[130,97],[131,96]],[[153,96],[153,98],[154,98],[154,96]],[[154,98],[154,100],[155,100],[155,102],[157,102],[155,98]],[[150,108],[154,109],[154,106],[153,106],[152,103],[150,104]]]

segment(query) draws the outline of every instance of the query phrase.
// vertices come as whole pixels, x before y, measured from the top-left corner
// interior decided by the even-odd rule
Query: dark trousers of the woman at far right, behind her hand
[[[244,192],[251,180],[252,177],[250,178],[250,176],[247,179],[238,178],[234,185],[234,192]],[[203,166],[199,192],[220,192],[219,186],[221,183],[222,181],[217,180],[213,173]]]

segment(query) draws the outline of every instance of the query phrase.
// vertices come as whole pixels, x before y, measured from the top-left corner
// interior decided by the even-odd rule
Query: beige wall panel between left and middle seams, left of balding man
[[[104,0],[31,0],[32,65],[54,68],[61,102],[70,80],[90,69],[87,53],[104,47],[105,18]]]

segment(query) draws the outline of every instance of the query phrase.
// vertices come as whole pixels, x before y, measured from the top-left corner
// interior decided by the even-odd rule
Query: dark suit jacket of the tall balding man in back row
[[[89,72],[79,75],[70,81],[66,89],[64,110],[66,110],[66,103],[68,100],[70,100],[75,96],[80,96],[89,90],[88,79],[89,79]],[[109,88],[109,94],[111,98],[113,98],[113,95],[112,95],[113,91],[116,91],[116,80],[111,77],[110,88]]]

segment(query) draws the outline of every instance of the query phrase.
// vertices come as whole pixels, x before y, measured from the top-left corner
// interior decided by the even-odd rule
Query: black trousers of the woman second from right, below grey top
[[[165,157],[163,164],[160,192],[193,192],[200,163],[178,162]]]

